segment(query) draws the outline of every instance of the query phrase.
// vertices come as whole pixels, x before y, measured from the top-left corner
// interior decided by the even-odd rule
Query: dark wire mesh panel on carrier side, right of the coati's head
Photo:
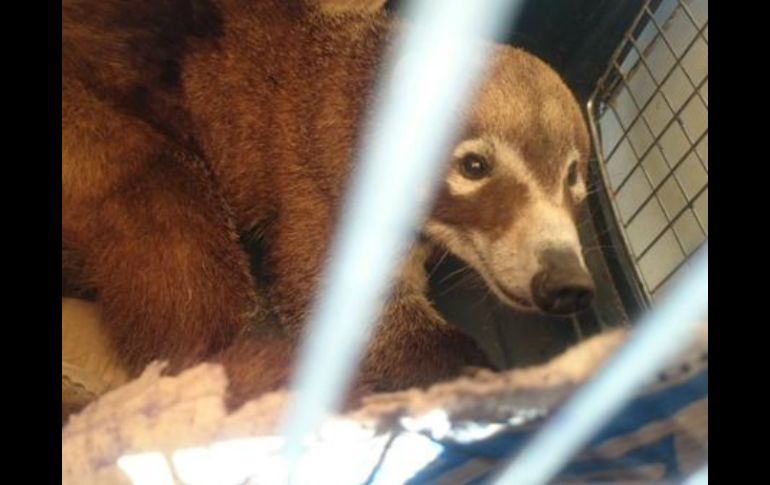
[[[614,226],[655,300],[708,239],[708,1],[645,2],[590,115]]]

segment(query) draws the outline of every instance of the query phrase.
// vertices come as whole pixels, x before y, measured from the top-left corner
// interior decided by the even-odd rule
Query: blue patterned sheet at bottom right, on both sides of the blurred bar
[[[708,367],[658,385],[629,405],[564,468],[555,482],[681,482],[708,460]],[[438,457],[412,485],[483,484],[515,456],[542,424],[506,429],[467,444],[442,442]]]

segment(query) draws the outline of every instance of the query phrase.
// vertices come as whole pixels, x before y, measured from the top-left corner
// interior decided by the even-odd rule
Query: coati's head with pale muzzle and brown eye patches
[[[561,78],[530,54],[498,48],[426,235],[510,306],[550,314],[586,308],[594,286],[576,219],[589,149]]]

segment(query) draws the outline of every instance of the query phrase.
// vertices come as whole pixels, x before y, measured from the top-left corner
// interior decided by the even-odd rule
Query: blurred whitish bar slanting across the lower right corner
[[[653,376],[686,349],[708,320],[708,245],[630,341],[579,389],[493,483],[547,483]]]

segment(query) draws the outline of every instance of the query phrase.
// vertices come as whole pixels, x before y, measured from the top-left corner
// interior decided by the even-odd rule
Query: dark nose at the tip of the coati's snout
[[[594,296],[594,283],[573,251],[545,251],[542,270],[532,278],[535,304],[546,313],[565,315],[585,310]]]

